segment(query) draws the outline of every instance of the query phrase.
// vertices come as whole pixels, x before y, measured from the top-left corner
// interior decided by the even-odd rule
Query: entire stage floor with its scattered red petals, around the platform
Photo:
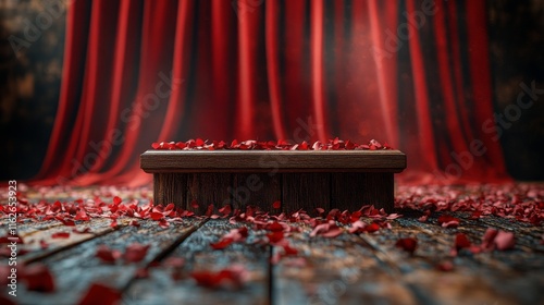
[[[23,191],[36,210],[16,225],[16,297],[4,282],[5,245],[0,263],[2,296],[15,304],[544,304],[543,184],[403,186],[401,217],[367,208],[366,224],[341,211],[334,224],[329,211],[146,216],[134,205],[148,204],[149,188]],[[314,230],[319,222],[327,225]],[[489,228],[497,231],[484,237]]]

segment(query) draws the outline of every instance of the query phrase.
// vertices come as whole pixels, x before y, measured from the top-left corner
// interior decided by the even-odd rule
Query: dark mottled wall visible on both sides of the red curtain
[[[454,1],[454,0],[449,0]],[[480,0],[477,0],[480,1]],[[53,19],[29,48],[15,54],[9,38],[22,36],[40,0],[0,2],[0,180],[37,173],[54,121],[62,76],[64,15]],[[521,82],[544,89],[544,1],[487,1],[494,108],[515,103]],[[504,131],[500,143],[517,180],[544,180],[544,95]]]

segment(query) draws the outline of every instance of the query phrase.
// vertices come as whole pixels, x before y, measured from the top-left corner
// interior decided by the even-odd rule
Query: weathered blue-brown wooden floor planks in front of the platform
[[[467,212],[450,212],[460,224],[443,228],[436,224],[440,212],[426,222],[418,221],[420,212],[399,212],[404,217],[387,221],[391,229],[335,237],[313,235],[305,222],[285,222],[289,229],[279,243],[264,242],[270,231],[228,218],[182,218],[165,228],[150,219],[132,225],[135,219],[129,217],[118,219],[115,228],[104,218],[76,227],[58,220],[24,221],[17,230],[25,242],[21,247],[28,252],[17,257],[18,264],[48,269],[54,290],[27,290],[20,283],[17,296],[11,297],[2,282],[0,303],[78,304],[98,284],[121,294],[120,304],[544,304],[542,225],[494,216],[471,220]],[[1,225],[4,231],[7,218]],[[224,249],[211,246],[244,228],[247,236]],[[515,247],[452,255],[457,233],[477,244],[487,228],[514,232]],[[51,239],[59,232],[70,236]],[[395,246],[404,237],[417,239],[413,254]],[[285,244],[292,255],[285,254]],[[97,257],[99,248],[126,255],[131,245],[148,247],[137,263],[120,258],[106,264]],[[7,274],[1,276],[4,281]],[[217,284],[220,278],[226,284]]]

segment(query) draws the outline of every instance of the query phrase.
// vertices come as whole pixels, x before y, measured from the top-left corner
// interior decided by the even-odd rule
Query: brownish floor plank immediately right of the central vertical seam
[[[356,235],[309,241],[312,229],[298,227],[287,237],[298,255],[274,266],[276,304],[421,304]]]

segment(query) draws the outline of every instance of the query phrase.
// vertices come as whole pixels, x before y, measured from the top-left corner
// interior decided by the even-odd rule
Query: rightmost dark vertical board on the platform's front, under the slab
[[[358,210],[363,205],[374,205],[393,211],[393,173],[332,173],[331,180],[332,207]]]

